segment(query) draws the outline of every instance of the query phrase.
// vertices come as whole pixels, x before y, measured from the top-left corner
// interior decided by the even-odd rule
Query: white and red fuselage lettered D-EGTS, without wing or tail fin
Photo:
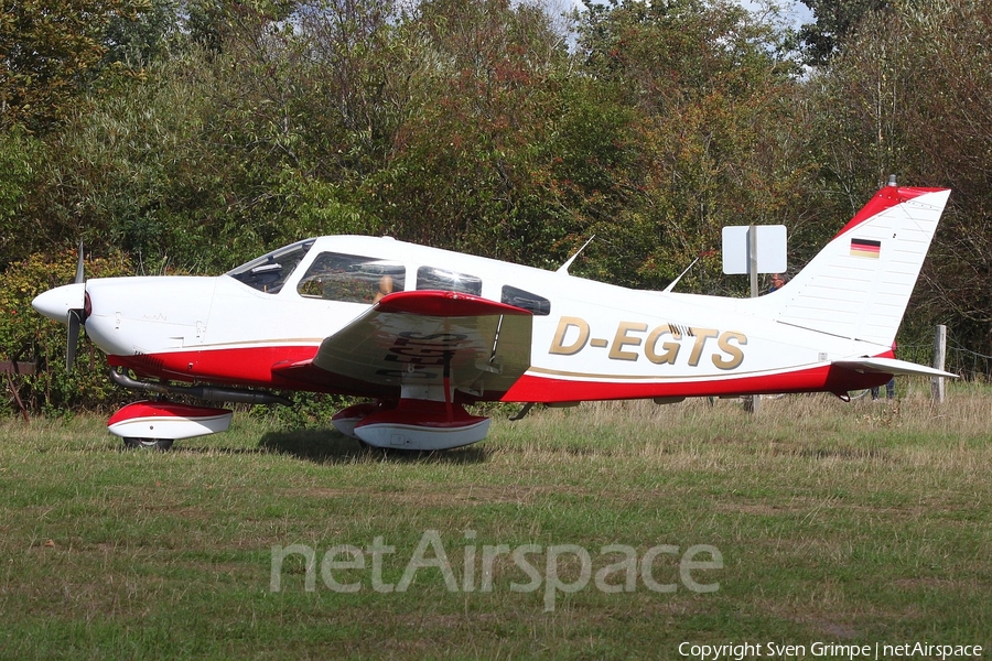
[[[499,394],[504,401],[837,391],[831,360],[889,355],[888,347],[776,323],[761,300],[629,290],[355,236],[301,241],[216,278],[89,280],[85,326],[111,365],[140,375],[313,390],[273,368],[311,359],[377,296],[418,289],[533,314],[531,367]],[[869,376],[865,384],[877,380]],[[319,389],[388,394],[349,383]]]

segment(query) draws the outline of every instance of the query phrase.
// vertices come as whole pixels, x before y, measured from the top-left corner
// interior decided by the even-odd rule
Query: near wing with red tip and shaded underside
[[[499,399],[530,367],[530,312],[471,294],[397,292],[324,339],[311,360],[282,365],[288,379],[358,394],[440,388]]]

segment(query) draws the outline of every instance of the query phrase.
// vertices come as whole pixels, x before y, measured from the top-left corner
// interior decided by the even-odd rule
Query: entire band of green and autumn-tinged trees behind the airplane
[[[809,71],[724,0],[73,7],[0,14],[4,279],[79,238],[217,273],[381,232],[557,268],[595,235],[573,273],[661,289],[700,258],[680,290],[735,295],[723,226],[785,224],[795,269],[896,173],[955,189],[907,327],[992,354],[985,4],[817,0]]]

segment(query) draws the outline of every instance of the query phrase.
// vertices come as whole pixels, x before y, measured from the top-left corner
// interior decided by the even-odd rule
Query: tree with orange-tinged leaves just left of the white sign
[[[784,129],[796,85],[783,35],[742,8],[615,0],[580,28],[586,72],[636,109],[637,171],[597,234],[622,282],[662,288],[697,257],[687,282],[722,291],[725,225],[781,221],[811,164]],[[629,264],[634,262],[632,268]],[[628,267],[623,269],[622,264]]]

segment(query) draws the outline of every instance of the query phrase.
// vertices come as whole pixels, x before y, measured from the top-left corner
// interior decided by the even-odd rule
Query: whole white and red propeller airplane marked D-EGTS
[[[111,379],[154,398],[116,412],[128,446],[228,429],[231,411],[170,401],[289,403],[273,390],[369,401],[332,418],[379,448],[483,440],[465,407],[849,391],[956,375],[895,358],[903,314],[949,189],[878,191],[781,289],[753,299],[632,290],[388,237],[298,241],[219,277],[86,280],[33,306],[80,327]],[[576,253],[578,254],[578,253]],[[134,376],[130,376],[133,373]]]

